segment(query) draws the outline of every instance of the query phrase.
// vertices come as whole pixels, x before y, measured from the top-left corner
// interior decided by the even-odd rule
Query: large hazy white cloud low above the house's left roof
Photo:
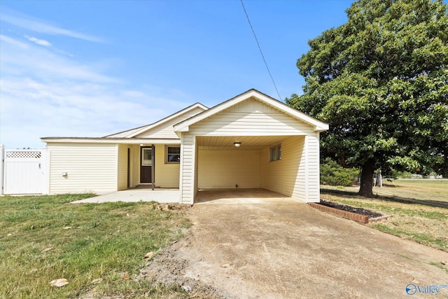
[[[179,92],[109,76],[113,60],[84,64],[8,36],[1,42],[0,143],[7,148],[41,148],[40,137],[101,137],[191,104],[167,99],[182,98]]]

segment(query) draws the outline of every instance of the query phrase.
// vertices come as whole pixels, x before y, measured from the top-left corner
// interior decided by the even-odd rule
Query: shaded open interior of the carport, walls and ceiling
[[[291,196],[304,139],[303,135],[197,137],[197,187],[264,188]]]

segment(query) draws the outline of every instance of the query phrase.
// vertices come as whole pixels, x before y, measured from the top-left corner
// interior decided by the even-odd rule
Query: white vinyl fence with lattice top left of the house
[[[47,193],[46,154],[45,150],[6,150],[0,145],[0,195]]]

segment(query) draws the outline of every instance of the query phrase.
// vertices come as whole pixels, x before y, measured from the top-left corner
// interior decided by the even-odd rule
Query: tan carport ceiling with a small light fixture
[[[202,150],[232,150],[234,142],[241,142],[239,150],[256,150],[266,146],[275,146],[290,136],[226,136],[226,137],[196,137],[197,145]]]

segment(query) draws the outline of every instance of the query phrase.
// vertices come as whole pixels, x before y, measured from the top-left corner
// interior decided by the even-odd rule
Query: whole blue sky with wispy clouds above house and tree
[[[351,1],[244,1],[281,99]],[[0,3],[0,144],[101,137],[255,88],[279,99],[238,0]]]

